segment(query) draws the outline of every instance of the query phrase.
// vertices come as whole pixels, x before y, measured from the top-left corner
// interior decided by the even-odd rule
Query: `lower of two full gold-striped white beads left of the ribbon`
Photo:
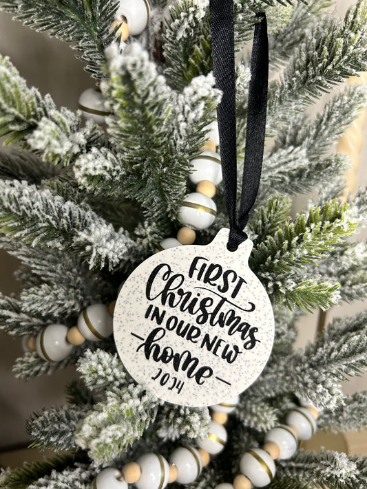
[[[178,210],[178,220],[195,230],[207,229],[216,219],[217,207],[213,200],[202,193],[187,195]]]

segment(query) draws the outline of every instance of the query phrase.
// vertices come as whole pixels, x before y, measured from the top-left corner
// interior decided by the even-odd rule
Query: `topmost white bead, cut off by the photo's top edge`
[[[150,6],[147,0],[120,0],[116,19],[127,23],[129,34],[132,36],[137,36],[145,30],[149,18]]]

